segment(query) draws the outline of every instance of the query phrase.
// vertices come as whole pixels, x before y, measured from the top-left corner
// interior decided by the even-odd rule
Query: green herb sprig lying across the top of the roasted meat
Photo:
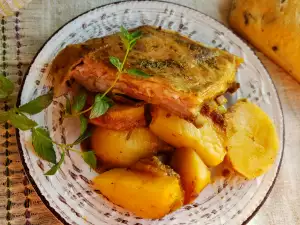
[[[104,113],[106,113],[107,110],[114,104],[113,101],[110,98],[108,98],[106,95],[116,85],[116,83],[120,79],[120,75],[122,73],[127,73],[130,75],[135,75],[135,76],[144,77],[144,78],[151,77],[149,74],[147,74],[139,69],[131,68],[131,69],[127,70],[124,68],[130,51],[135,46],[137,40],[142,37],[142,33],[140,31],[134,31],[134,32],[130,33],[123,26],[121,26],[119,35],[120,35],[120,38],[126,48],[126,52],[125,52],[125,55],[124,55],[124,58],[122,61],[115,56],[109,57],[110,63],[113,66],[115,66],[118,70],[118,72],[116,73],[116,78],[115,78],[114,82],[103,94],[97,94],[95,97],[94,104],[91,107],[89,107],[83,111],[81,111],[81,110],[83,109],[83,107],[86,103],[86,96],[87,96],[85,90],[80,91],[79,94],[74,98],[74,102],[73,102],[72,106],[70,106],[71,105],[70,100],[67,99],[67,108],[69,108],[69,109],[72,108],[72,110],[69,110],[69,112],[66,111],[66,117],[80,116],[80,115],[83,115],[83,114],[91,111],[89,118],[93,119],[93,118],[102,116]],[[84,121],[83,117],[80,117],[80,121],[81,121],[81,126],[84,127],[84,124],[87,121]]]

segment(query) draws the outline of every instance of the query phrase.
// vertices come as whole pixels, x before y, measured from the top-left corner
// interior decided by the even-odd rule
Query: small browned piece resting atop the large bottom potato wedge
[[[141,159],[130,168],[155,176],[175,176],[179,178],[179,175],[171,167],[163,164],[156,156]]]

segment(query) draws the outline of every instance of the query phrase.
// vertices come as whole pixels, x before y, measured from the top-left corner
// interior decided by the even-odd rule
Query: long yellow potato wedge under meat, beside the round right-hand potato
[[[220,164],[226,155],[222,138],[210,123],[197,128],[161,108],[154,108],[150,130],[177,148],[195,149],[207,166]]]

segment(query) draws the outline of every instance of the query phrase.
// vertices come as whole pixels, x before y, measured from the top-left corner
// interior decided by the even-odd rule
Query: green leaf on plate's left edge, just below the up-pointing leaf
[[[8,112],[8,117],[11,124],[20,130],[29,130],[38,125],[35,121],[27,118],[27,116],[17,112],[15,109]]]

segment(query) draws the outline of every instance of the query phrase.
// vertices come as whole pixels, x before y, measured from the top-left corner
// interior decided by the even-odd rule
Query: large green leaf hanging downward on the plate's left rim
[[[56,155],[49,131],[41,127],[32,129],[32,144],[38,156],[56,164]]]

